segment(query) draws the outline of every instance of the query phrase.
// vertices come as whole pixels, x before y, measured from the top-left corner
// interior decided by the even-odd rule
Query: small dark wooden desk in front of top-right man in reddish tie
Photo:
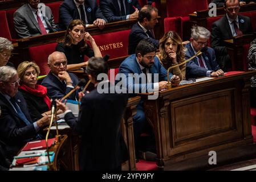
[[[243,48],[244,45],[250,44],[256,38],[256,34],[247,34],[242,37],[234,37],[231,40],[224,40],[227,53],[230,56],[233,71],[247,71],[248,50]],[[246,57],[246,59],[245,59]]]

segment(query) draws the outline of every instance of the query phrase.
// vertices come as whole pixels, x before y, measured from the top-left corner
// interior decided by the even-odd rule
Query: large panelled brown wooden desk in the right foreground
[[[156,136],[157,166],[207,169],[256,154],[250,122],[250,78],[256,71],[214,78],[143,97]],[[209,151],[217,152],[210,166]]]

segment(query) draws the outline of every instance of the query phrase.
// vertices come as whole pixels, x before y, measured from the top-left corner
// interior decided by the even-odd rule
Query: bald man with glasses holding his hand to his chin
[[[48,97],[60,99],[78,85],[78,77],[67,72],[67,58],[63,52],[51,53],[47,65],[50,72],[43,79],[42,85],[46,86]],[[76,100],[76,93],[72,93],[67,99]]]

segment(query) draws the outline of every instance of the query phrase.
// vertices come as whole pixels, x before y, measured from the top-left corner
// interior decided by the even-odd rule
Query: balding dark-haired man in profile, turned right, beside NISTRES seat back
[[[135,53],[135,48],[140,40],[151,42],[156,49],[159,48],[159,40],[155,39],[153,28],[158,23],[158,10],[150,5],[144,6],[139,13],[138,22],[133,24],[128,39],[128,54]]]

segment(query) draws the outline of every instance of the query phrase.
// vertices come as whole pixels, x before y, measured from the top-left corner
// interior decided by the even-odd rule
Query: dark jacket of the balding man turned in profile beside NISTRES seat
[[[129,43],[128,44],[128,54],[129,55],[132,55],[133,53],[135,53],[137,44],[139,44],[140,40],[143,40],[143,39],[154,44],[156,49],[159,48],[159,40],[154,39],[152,34],[149,34],[149,38],[148,38],[147,34],[140,27],[139,23],[135,23],[135,24],[133,24],[132,30],[129,34],[129,42],[128,42]]]

